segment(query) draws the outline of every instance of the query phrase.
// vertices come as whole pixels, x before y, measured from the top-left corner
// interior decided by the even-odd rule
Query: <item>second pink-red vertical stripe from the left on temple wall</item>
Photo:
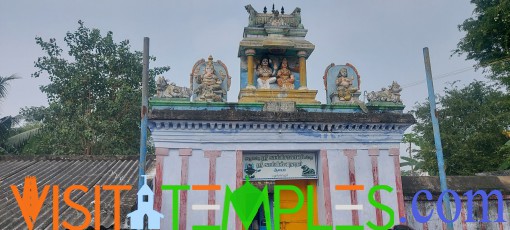
[[[191,149],[179,149],[181,156],[181,185],[188,184],[189,157]],[[188,191],[181,190],[181,202],[179,206],[179,229],[186,229],[186,214],[188,208]]]

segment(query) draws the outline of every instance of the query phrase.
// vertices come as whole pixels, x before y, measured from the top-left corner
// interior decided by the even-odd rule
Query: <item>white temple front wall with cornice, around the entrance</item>
[[[207,191],[187,191],[186,202],[186,228],[193,225],[208,225],[214,222],[220,225],[223,214],[223,202],[226,185],[235,189],[241,178],[237,178],[238,151],[310,151],[317,153],[318,180],[317,198],[319,209],[319,223],[327,225],[328,215],[332,225],[351,225],[356,221],[366,226],[366,222],[376,223],[376,209],[368,201],[369,189],[374,185],[372,157],[370,151],[377,150],[376,162],[378,166],[379,184],[389,185],[393,192],[380,192],[381,203],[390,206],[395,212],[395,223],[399,219],[399,205],[397,199],[395,157],[390,156],[389,149],[398,152],[400,138],[403,130],[394,131],[352,131],[342,133],[322,132],[291,132],[278,130],[245,130],[245,131],[206,131],[206,130],[180,130],[155,129],[153,139],[158,149],[170,149],[168,156],[163,156],[164,169],[162,171],[162,184],[181,184],[183,172],[183,158],[188,157],[187,184],[209,184],[210,159],[205,152],[216,150],[220,156],[216,159],[215,184],[221,186],[220,191],[214,194],[215,204],[220,210],[210,211],[192,210],[193,204],[208,204]],[[183,149],[191,151],[190,156],[182,156]],[[325,151],[327,158],[327,176],[329,188],[325,187],[325,168],[322,163],[321,150]],[[336,185],[352,184],[349,178],[349,157],[346,151],[354,151],[353,167],[355,184],[364,185],[365,189],[356,191],[357,203],[353,203],[352,192],[338,191]],[[329,191],[329,195],[326,194]],[[180,194],[182,195],[182,194]],[[328,198],[329,196],[329,198]],[[161,211],[166,218],[162,220],[163,226],[171,225],[172,202],[171,192],[162,192]],[[181,201],[182,204],[182,201]],[[363,210],[357,212],[357,217],[350,210],[335,210],[335,205],[363,205]],[[329,205],[330,209],[327,209]],[[208,219],[213,220],[208,220]],[[229,215],[229,229],[235,229],[235,214],[231,207]],[[382,212],[382,222],[388,222],[388,215]]]

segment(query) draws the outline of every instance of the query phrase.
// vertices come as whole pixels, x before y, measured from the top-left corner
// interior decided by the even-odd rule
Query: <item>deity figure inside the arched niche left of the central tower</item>
[[[196,89],[199,101],[207,102],[222,102],[223,101],[223,89],[221,88],[222,79],[214,73],[214,65],[212,57],[209,56],[209,60],[205,66],[204,74],[198,76],[197,83],[199,84]]]

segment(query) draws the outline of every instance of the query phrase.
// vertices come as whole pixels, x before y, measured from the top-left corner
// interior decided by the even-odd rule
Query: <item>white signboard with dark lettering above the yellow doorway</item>
[[[243,178],[250,180],[316,179],[315,153],[248,153],[243,154]]]

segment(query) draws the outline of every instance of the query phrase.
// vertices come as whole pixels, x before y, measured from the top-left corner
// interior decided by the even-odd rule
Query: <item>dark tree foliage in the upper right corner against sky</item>
[[[459,30],[466,32],[457,44],[456,54],[475,60],[489,76],[510,86],[510,1],[471,0],[474,15]]]

